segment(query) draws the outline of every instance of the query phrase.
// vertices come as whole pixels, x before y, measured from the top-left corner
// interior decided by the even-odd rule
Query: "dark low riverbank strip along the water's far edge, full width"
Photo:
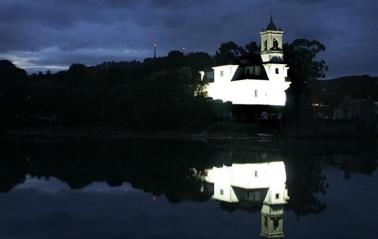
[[[111,140],[123,138],[166,139],[253,139],[253,138],[376,138],[376,126],[367,127],[357,120],[311,121],[252,120],[248,122],[218,122],[202,130],[141,130],[78,126],[34,126],[28,129],[0,131],[1,138],[27,140]],[[371,130],[368,130],[370,129]]]

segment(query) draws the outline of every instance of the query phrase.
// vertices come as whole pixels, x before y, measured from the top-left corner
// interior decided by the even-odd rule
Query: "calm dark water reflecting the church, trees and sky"
[[[0,238],[376,238],[376,168],[371,140],[2,141]]]

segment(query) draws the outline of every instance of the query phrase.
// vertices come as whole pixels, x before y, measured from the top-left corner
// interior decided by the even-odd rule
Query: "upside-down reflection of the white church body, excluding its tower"
[[[205,181],[213,186],[212,198],[228,203],[286,204],[284,162],[233,164],[206,170]]]

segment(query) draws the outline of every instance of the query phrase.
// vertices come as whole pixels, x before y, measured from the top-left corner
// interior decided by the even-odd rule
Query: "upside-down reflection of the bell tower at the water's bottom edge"
[[[262,205],[260,235],[264,238],[284,237],[282,218],[284,218],[283,205]]]

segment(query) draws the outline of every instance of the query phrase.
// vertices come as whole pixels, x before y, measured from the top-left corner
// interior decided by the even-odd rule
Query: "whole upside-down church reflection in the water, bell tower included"
[[[207,190],[214,200],[248,210],[261,208],[261,236],[283,237],[284,204],[289,200],[284,162],[233,164],[207,169]],[[262,207],[261,207],[262,204]]]

